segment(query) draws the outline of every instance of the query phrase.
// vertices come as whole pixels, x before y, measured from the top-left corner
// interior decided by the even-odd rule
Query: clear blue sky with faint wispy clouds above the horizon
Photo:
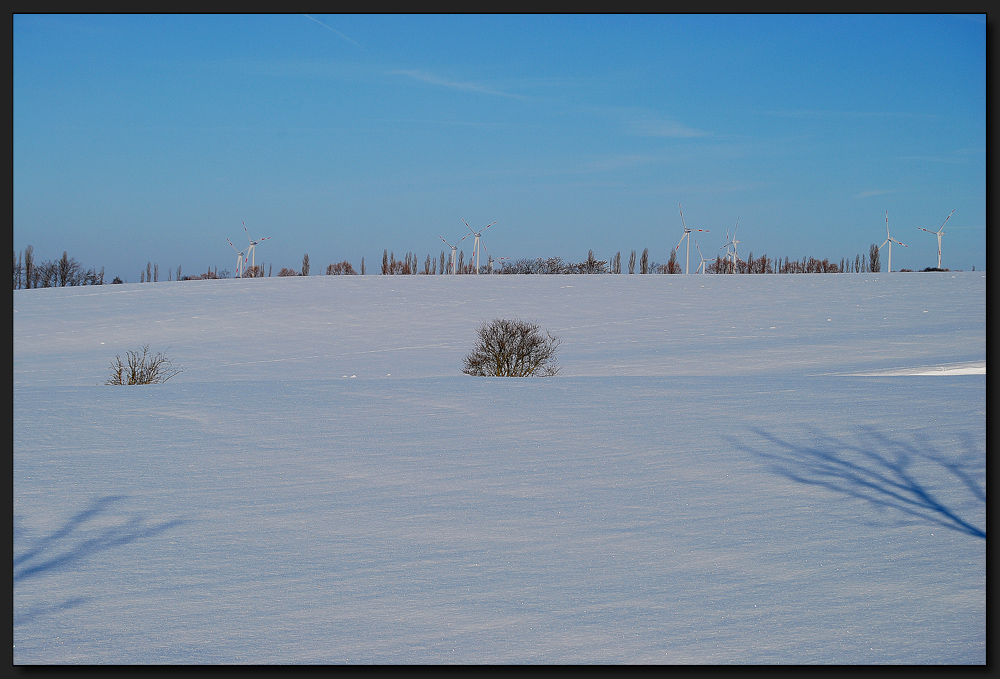
[[[986,263],[985,15],[15,15],[14,251]],[[468,257],[472,237],[460,246]],[[692,247],[692,253],[695,249]],[[683,264],[683,251],[681,252]],[[697,262],[696,256],[692,259]],[[885,256],[883,255],[883,266]],[[696,263],[691,265],[692,268]]]

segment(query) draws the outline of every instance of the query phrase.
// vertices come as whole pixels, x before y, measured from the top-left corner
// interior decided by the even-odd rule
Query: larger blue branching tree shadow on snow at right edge
[[[939,499],[940,492],[918,480],[918,474],[932,478],[936,485],[950,482],[963,496],[959,502],[986,504],[985,459],[971,440],[964,453],[935,451],[926,437],[913,441],[889,438],[866,428],[854,443],[846,437],[809,432],[802,441],[791,441],[758,428],[751,431],[770,445],[755,448],[744,438],[736,441],[766,460],[778,474],[798,483],[820,486],[834,492],[893,509],[912,517],[986,539],[986,531],[959,515],[953,504]],[[734,439],[735,440],[735,439]]]

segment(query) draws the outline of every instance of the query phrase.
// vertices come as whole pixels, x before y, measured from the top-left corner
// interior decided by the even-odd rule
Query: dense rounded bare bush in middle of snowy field
[[[560,340],[520,319],[496,318],[476,329],[476,346],[465,357],[462,372],[477,377],[551,377],[558,374]]]

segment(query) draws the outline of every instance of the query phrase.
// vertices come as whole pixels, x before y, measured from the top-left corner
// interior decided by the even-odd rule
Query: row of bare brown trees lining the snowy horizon
[[[735,260],[735,261],[734,261]],[[773,274],[773,273],[879,273],[882,271],[880,250],[872,243],[867,256],[857,254],[853,259],[841,258],[840,262],[829,259],[817,259],[815,257],[802,257],[802,259],[772,259],[767,255],[754,257],[753,252],[746,259],[733,258],[730,255],[716,255],[714,260],[706,259],[704,267],[697,266],[694,271],[702,269],[704,273],[712,274]],[[74,285],[104,285],[104,267],[98,271],[93,268],[85,269],[83,265],[70,257],[67,252],[63,252],[62,257],[57,260],[36,261],[34,249],[28,245],[22,252],[14,253],[14,289],[30,288],[51,288]],[[475,274],[476,265],[472,261],[465,261],[465,251],[459,250],[454,262],[452,256],[446,254],[444,250],[440,255],[433,257],[427,255],[423,265],[419,264],[417,255],[407,252],[403,259],[396,259],[395,253],[388,249],[382,252],[382,266],[380,273],[383,276],[393,275],[450,275],[452,269],[456,274]],[[278,270],[279,277],[286,276],[308,276],[310,275],[309,254],[302,257],[302,266],[299,269],[281,267]],[[948,269],[937,269],[928,267],[923,271],[947,271]],[[635,250],[627,262],[629,274],[680,274],[684,273],[683,267],[677,262],[677,250],[670,251],[670,258],[666,264],[651,261],[649,258],[649,248],[643,248],[642,253],[637,255]],[[910,271],[910,269],[900,269],[900,271]],[[248,267],[244,272],[244,278],[264,278],[270,277],[273,272],[273,265],[257,264]],[[361,258],[360,272],[347,260],[335,262],[327,266],[326,275],[365,275],[365,258]],[[587,258],[580,262],[564,261],[561,257],[536,257],[521,258],[515,260],[501,259],[495,262],[492,257],[487,257],[485,264],[479,267],[480,274],[620,274],[622,273],[622,253],[618,251],[610,259],[597,259],[594,251],[587,252]],[[232,274],[218,267],[209,268],[205,273],[193,276],[182,276],[181,267],[167,272],[167,280],[189,281],[206,280],[218,278],[231,278]],[[146,270],[139,272],[140,283],[155,283],[160,280],[159,264],[146,262]],[[112,284],[126,283],[121,277],[115,276]]]

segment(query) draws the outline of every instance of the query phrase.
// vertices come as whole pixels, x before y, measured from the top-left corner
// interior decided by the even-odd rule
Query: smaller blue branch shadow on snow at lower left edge
[[[19,531],[15,527],[14,584],[50,571],[69,568],[98,552],[150,538],[185,523],[181,519],[147,523],[143,514],[135,512],[115,517],[112,505],[123,499],[123,495],[108,495],[94,500],[90,506],[74,514],[49,535],[33,540],[20,553],[17,552]],[[99,525],[106,523],[114,525]],[[70,600],[67,603],[75,605],[79,602]]]

